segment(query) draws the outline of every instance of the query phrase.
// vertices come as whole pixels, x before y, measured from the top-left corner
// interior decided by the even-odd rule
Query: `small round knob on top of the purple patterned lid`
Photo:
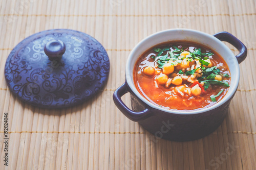
[[[60,60],[65,51],[66,45],[60,40],[52,40],[45,45],[45,53],[49,60]]]

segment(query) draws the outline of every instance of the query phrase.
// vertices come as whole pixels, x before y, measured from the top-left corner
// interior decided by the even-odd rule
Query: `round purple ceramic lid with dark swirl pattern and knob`
[[[34,106],[63,108],[91,99],[106,83],[110,61],[93,37],[56,29],[17,44],[5,65],[10,90]]]

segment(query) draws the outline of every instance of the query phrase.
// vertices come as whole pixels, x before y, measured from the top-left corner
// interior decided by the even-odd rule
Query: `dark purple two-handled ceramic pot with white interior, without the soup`
[[[189,41],[202,44],[218,53],[230,70],[230,87],[224,98],[216,104],[196,110],[174,110],[159,107],[146,100],[135,87],[133,71],[138,58],[151,47],[164,42]],[[236,47],[238,55],[222,42]],[[231,99],[237,91],[240,77],[239,63],[247,56],[246,46],[228,32],[209,35],[189,29],[170,29],[152,34],[140,41],[131,51],[126,63],[125,82],[118,87],[113,100],[118,109],[131,120],[158,138],[174,141],[189,141],[202,138],[214,132],[223,122]],[[131,93],[131,109],[121,100],[125,93]]]

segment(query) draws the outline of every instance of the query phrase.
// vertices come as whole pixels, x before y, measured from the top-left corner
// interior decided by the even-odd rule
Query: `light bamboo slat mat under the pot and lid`
[[[255,8],[253,0],[0,1],[0,169],[256,169]],[[15,98],[7,88],[4,66],[18,42],[56,28],[78,30],[101,42],[110,57],[110,77],[89,102],[41,109]],[[125,80],[131,49],[146,36],[171,28],[227,31],[248,47],[227,117],[214,133],[195,141],[156,139],[112,100]],[[130,105],[129,95],[123,100]]]

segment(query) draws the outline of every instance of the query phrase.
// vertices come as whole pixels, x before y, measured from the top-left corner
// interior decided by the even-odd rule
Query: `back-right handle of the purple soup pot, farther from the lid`
[[[239,39],[237,39],[237,37],[233,36],[232,34],[230,34],[228,32],[225,32],[225,31],[219,32],[219,33],[215,34],[214,36],[216,38],[218,38],[219,40],[229,42],[234,47],[236,47],[239,51],[239,54],[236,56],[238,63],[240,64],[242,61],[244,61],[244,59],[247,56],[247,48],[243,44],[243,42],[241,42]]]

